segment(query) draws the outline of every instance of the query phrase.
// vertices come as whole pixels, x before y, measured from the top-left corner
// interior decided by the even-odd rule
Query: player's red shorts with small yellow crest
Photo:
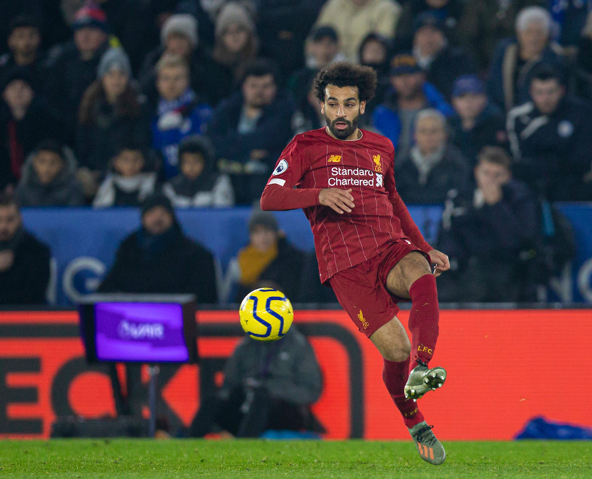
[[[339,304],[366,336],[372,336],[379,327],[397,316],[398,298],[387,290],[387,276],[404,256],[417,251],[430,256],[408,240],[396,240],[374,258],[352,268],[344,269],[330,279]]]

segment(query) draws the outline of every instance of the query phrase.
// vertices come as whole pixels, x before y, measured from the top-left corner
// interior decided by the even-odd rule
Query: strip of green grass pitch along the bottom
[[[0,478],[592,478],[592,442],[444,446],[432,466],[410,441],[0,441]]]

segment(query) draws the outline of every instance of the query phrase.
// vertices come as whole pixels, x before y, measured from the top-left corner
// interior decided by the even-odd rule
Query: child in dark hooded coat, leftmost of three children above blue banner
[[[84,202],[72,150],[44,140],[28,156],[17,187],[21,206],[79,206]]]

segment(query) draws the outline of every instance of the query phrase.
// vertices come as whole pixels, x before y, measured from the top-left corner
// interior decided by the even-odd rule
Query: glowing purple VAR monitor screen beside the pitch
[[[180,304],[96,303],[95,339],[102,361],[189,360]]]

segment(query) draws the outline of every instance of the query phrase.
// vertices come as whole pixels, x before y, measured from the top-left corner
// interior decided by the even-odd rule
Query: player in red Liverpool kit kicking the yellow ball
[[[261,208],[303,208],[321,282],[330,282],[384,358],[382,379],[422,459],[442,464],[445,451],[415,401],[446,380],[445,369],[428,363],[438,336],[436,276],[450,263],[423,239],[397,193],[391,141],[358,128],[376,84],[372,68],[346,62],[318,73],[314,88],[327,126],[288,144]],[[412,301],[411,343],[397,319],[401,299]]]

